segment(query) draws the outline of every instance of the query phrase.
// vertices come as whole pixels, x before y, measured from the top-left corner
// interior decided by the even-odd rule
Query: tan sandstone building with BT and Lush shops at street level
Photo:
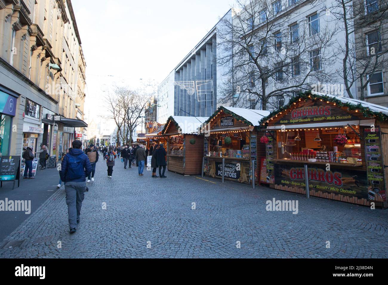
[[[71,1],[0,0],[0,20],[0,152],[20,155],[28,145],[34,151],[47,145],[60,158],[74,128],[86,126],[76,119],[84,88],[77,93],[78,67],[86,65],[78,60],[81,41]]]

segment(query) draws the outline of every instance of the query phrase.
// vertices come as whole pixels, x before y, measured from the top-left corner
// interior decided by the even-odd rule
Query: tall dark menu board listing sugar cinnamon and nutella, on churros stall
[[[376,126],[374,129],[364,129],[365,159],[368,179],[369,201],[386,202],[386,189],[384,181],[384,164],[381,150],[381,130]]]

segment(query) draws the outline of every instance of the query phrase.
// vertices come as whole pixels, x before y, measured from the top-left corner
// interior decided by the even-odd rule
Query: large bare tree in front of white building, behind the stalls
[[[249,100],[251,108],[257,103],[263,110],[278,108],[279,98],[335,80],[331,45],[337,30],[318,14],[295,22],[296,9],[320,3],[300,2],[238,0],[236,16],[222,20],[217,60],[228,78],[220,86],[222,103],[242,106]]]

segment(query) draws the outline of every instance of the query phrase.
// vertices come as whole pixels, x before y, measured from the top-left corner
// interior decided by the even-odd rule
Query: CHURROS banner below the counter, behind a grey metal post
[[[308,168],[310,190],[368,199],[368,181],[365,171],[356,169]],[[292,164],[275,164],[275,184],[306,188],[305,169]]]

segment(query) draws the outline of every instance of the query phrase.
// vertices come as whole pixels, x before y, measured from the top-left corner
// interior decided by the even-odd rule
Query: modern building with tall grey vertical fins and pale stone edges
[[[231,21],[232,10],[222,19]],[[158,88],[158,122],[169,116],[210,116],[217,109],[222,72],[217,65],[220,20]],[[160,110],[160,111],[159,111]]]

